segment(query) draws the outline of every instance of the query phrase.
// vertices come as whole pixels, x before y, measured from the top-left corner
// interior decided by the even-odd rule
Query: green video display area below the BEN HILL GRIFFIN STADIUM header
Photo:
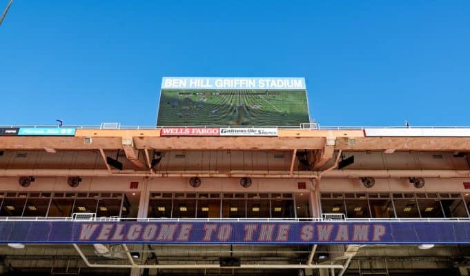
[[[162,89],[157,126],[300,126],[306,90]]]

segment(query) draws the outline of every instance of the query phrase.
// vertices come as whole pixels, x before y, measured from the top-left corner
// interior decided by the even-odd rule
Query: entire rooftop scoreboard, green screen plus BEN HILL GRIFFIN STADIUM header
[[[300,126],[304,78],[164,77],[157,126]]]

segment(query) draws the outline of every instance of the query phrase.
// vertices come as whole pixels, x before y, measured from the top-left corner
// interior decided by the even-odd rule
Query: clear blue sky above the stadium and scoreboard
[[[470,125],[468,0],[15,0],[0,52],[0,125],[153,126],[165,76],[305,77],[324,126]]]

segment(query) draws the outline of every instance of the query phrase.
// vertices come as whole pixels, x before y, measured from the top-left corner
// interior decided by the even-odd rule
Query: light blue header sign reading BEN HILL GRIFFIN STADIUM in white
[[[304,78],[164,77],[161,89],[304,90]]]

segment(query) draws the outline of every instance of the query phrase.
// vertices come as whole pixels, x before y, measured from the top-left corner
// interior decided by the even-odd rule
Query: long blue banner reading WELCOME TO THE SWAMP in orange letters
[[[470,244],[469,221],[0,221],[0,243]]]

